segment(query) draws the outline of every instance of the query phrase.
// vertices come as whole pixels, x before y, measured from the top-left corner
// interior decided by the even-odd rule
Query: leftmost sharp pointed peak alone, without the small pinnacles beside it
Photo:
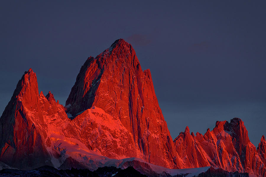
[[[51,165],[45,146],[47,132],[32,69],[25,72],[0,118],[0,160],[16,168]],[[37,165],[37,166],[36,166]]]

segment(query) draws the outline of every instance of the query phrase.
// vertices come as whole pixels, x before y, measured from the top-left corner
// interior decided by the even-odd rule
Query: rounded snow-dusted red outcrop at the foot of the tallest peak
[[[96,106],[75,117],[72,124],[81,142],[91,150],[99,150],[106,157],[122,159],[140,154],[135,148],[132,134],[121,121]]]

